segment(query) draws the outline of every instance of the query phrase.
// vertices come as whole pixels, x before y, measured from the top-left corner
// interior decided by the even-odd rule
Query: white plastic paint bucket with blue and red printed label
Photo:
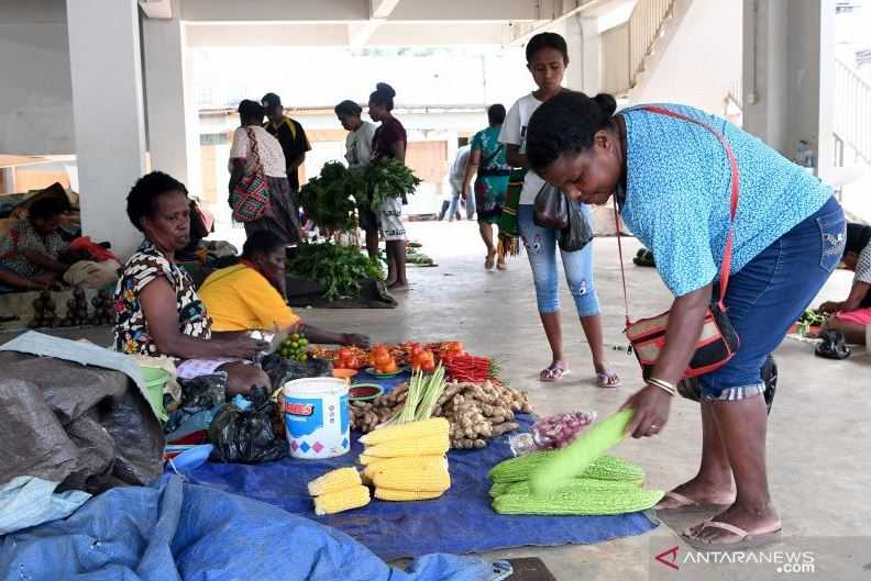
[[[282,403],[291,457],[333,458],[351,449],[348,381],[324,377],[288,381]]]

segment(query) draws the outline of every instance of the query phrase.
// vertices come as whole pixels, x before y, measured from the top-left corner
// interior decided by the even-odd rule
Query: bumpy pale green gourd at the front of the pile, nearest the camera
[[[663,496],[660,490],[503,494],[493,501],[499,514],[606,515],[646,511]]]

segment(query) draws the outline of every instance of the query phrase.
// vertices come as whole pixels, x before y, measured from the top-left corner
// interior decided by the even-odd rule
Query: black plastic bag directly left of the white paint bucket
[[[253,388],[246,398],[251,407],[224,406],[209,426],[214,445],[211,459],[218,462],[260,463],[284,458],[287,445],[276,437],[273,414],[276,404],[264,388]]]

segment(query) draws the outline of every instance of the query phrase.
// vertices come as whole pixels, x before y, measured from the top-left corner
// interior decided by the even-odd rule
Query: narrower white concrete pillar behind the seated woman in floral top
[[[199,118],[191,87],[185,24],[174,2],[173,19],[143,19],[145,107],[151,167],[202,191]]]

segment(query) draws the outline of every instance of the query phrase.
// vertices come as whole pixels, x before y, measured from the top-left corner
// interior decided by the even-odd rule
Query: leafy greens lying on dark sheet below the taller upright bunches
[[[323,295],[331,301],[356,297],[365,279],[384,280],[379,262],[370,260],[360,248],[331,242],[300,244],[287,269],[323,284]]]

